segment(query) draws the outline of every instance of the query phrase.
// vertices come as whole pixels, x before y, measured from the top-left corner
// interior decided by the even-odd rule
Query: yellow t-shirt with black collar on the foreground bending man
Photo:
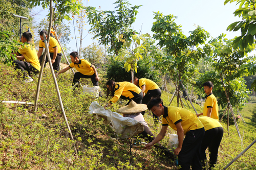
[[[190,130],[196,130],[203,128],[203,124],[197,118],[196,114],[189,110],[168,106],[164,107],[164,115],[162,118],[162,126],[170,126],[172,129],[177,131],[176,124],[181,123],[184,131],[184,135]]]

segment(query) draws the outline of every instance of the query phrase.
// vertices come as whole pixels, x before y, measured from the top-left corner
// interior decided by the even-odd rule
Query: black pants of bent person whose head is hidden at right
[[[205,166],[205,160],[206,154],[205,150],[209,149],[209,156],[210,156],[210,169],[212,167],[215,167],[215,164],[217,163],[217,158],[218,158],[218,150],[220,147],[220,143],[222,140],[223,136],[223,128],[218,127],[218,128],[213,128],[210,130],[205,131],[204,138],[202,140],[202,145],[201,145],[201,161],[203,162],[203,166]]]

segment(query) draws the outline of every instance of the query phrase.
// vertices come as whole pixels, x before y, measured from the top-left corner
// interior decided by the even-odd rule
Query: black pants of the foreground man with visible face
[[[178,155],[180,169],[189,170],[190,165],[193,170],[201,170],[202,164],[200,159],[201,143],[204,137],[204,128],[190,130],[186,133],[181,151]]]

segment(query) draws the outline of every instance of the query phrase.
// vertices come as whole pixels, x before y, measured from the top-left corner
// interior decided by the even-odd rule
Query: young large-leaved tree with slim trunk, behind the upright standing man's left
[[[159,45],[166,51],[166,60],[159,64],[179,80],[178,100],[181,82],[184,79],[191,80],[195,74],[196,66],[201,58],[205,58],[211,52],[209,45],[204,45],[209,33],[196,26],[187,37],[183,34],[181,26],[175,21],[174,15],[163,15],[155,12],[156,21],[153,23],[153,38],[159,40]],[[166,62],[167,61],[167,62]],[[177,102],[179,105],[179,102]]]

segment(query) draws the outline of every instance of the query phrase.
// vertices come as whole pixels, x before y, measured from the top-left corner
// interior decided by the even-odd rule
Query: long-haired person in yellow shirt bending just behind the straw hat
[[[108,98],[110,91],[112,99],[104,106],[104,108],[111,106],[116,103],[120,98],[124,100],[129,100],[126,105],[133,100],[137,104],[141,104],[143,93],[139,87],[130,82],[115,82],[114,80],[109,80],[106,82],[106,88],[108,88],[106,98]]]

